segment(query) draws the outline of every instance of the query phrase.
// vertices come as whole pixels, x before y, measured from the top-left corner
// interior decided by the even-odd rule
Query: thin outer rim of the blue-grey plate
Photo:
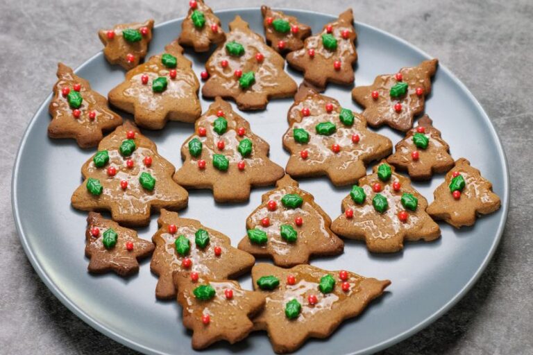
[[[352,8],[352,7],[350,6],[348,8]],[[297,8],[282,8],[282,7],[281,8],[277,8],[276,7],[276,9],[284,11],[284,12],[301,12],[301,13],[307,13],[307,14],[310,14],[310,15],[316,15],[316,14],[325,15],[327,17],[331,17],[332,19],[337,17],[336,15],[332,15],[330,13],[317,12],[317,11],[312,11],[312,10],[303,10],[303,9],[297,9]],[[249,11],[260,11],[260,7],[228,8],[228,9],[223,9],[223,10],[216,10],[216,11],[214,11],[214,13],[215,14],[221,14],[221,13],[226,13],[226,12],[249,12]],[[183,19],[185,19],[185,16],[177,17],[177,18],[174,18],[174,19],[169,19],[167,21],[161,22],[160,24],[156,24],[154,26],[154,28],[167,26],[168,24],[171,24],[171,23],[174,23],[174,22],[177,22],[177,21],[181,21]],[[414,46],[414,44],[411,44],[411,43],[407,42],[407,40],[403,40],[403,38],[398,37],[398,36],[396,36],[396,35],[394,35],[392,33],[384,31],[384,30],[382,30],[380,28],[377,28],[375,26],[371,26],[369,24],[365,24],[363,22],[354,21],[354,23],[355,23],[356,26],[366,27],[366,28],[368,28],[368,29],[370,29],[372,31],[376,31],[376,32],[380,33],[380,35],[383,35],[385,37],[389,37],[392,40],[400,42],[401,44],[404,44],[405,46],[409,47],[410,49],[416,51],[417,53],[419,53],[421,56],[423,56],[426,59],[434,58],[434,57],[432,57],[432,55],[429,55],[429,53],[426,53],[425,51],[419,49],[417,46]],[[74,69],[74,72],[76,73],[79,70],[83,69],[83,67],[87,66],[96,57],[98,57],[99,55],[103,55],[102,53],[103,53],[103,51],[100,50],[97,53],[95,53],[94,55],[92,55],[90,58],[85,60],[85,62],[83,62],[81,65],[76,67],[76,69]],[[496,149],[498,150],[498,155],[500,156],[500,159],[502,160],[502,163],[503,163],[502,167],[505,170],[505,174],[503,174],[503,184],[502,184],[502,197],[503,197],[502,204],[501,204],[502,218],[500,219],[500,223],[498,224],[498,230],[496,230],[496,238],[493,239],[493,243],[491,244],[491,247],[489,248],[489,252],[487,253],[487,255],[485,255],[482,263],[477,268],[477,270],[475,270],[475,272],[473,273],[473,276],[470,279],[468,279],[468,282],[466,282],[466,284],[461,288],[461,290],[458,293],[456,293],[454,297],[452,297],[450,300],[448,300],[448,302],[443,304],[443,306],[441,306],[441,308],[439,308],[436,311],[434,311],[430,316],[428,316],[427,318],[425,318],[421,322],[418,322],[418,324],[415,324],[414,326],[410,327],[409,329],[403,331],[403,333],[397,334],[396,336],[391,337],[391,338],[389,338],[387,340],[383,340],[381,343],[377,343],[375,345],[371,345],[370,347],[366,347],[365,349],[361,349],[361,350],[359,350],[357,352],[350,353],[350,354],[353,354],[353,355],[355,355],[355,354],[368,354],[368,353],[378,352],[378,351],[380,351],[382,349],[386,349],[387,347],[391,347],[392,345],[400,343],[400,341],[405,340],[405,339],[409,338],[410,336],[413,336],[414,334],[418,333],[419,331],[421,331],[425,327],[428,327],[430,324],[432,324],[437,319],[441,318],[441,316],[444,313],[446,313],[447,311],[449,311],[453,306],[455,306],[455,304],[457,304],[457,302],[459,302],[459,300],[461,300],[464,297],[464,295],[466,295],[466,293],[468,293],[468,291],[470,291],[471,288],[473,288],[473,286],[476,284],[477,280],[480,279],[480,277],[483,274],[484,270],[489,265],[489,262],[491,261],[494,253],[496,252],[496,249],[498,248],[498,245],[500,244],[503,232],[505,230],[505,224],[507,223],[507,216],[508,216],[508,212],[509,212],[509,198],[510,198],[510,196],[509,196],[509,180],[510,180],[510,177],[509,177],[509,164],[507,162],[507,155],[505,154],[505,148],[503,147],[502,140],[500,139],[500,135],[498,135],[498,132],[496,131],[496,128],[494,127],[491,119],[489,119],[489,115],[487,114],[487,112],[485,112],[485,110],[483,109],[483,107],[480,104],[480,102],[477,101],[477,98],[475,98],[475,96],[468,89],[468,87],[466,87],[466,85],[464,85],[464,83],[462,83],[462,81],[459,80],[459,78],[457,78],[457,76],[455,76],[455,74],[452,73],[452,71],[450,71],[450,69],[448,69],[448,67],[446,67],[445,65],[441,64],[440,62],[439,62],[439,71],[446,72],[446,74],[448,76],[450,76],[450,78],[452,79],[453,83],[455,83],[455,85],[458,85],[458,87],[460,89],[462,89],[464,94],[466,94],[467,98],[475,105],[476,110],[478,110],[481,113],[481,116],[482,116],[483,120],[485,121],[486,125],[489,127],[489,132],[491,133],[493,138],[498,143],[498,146],[496,147]],[[136,350],[138,352],[143,352],[145,354],[166,354],[164,352],[159,352],[157,349],[153,349],[151,347],[146,347],[145,345],[137,343],[135,340],[132,340],[130,338],[126,338],[125,336],[122,336],[121,334],[118,334],[116,331],[113,331],[112,329],[106,327],[104,324],[101,324],[101,322],[99,320],[96,320],[95,318],[91,317],[90,315],[87,315],[87,313],[85,313],[85,311],[83,311],[80,307],[78,307],[78,305],[75,304],[74,302],[71,302],[69,297],[67,297],[65,295],[65,293],[63,293],[60,290],[60,288],[56,284],[53,283],[53,281],[50,279],[49,275],[47,275],[46,271],[42,268],[40,263],[37,261],[37,259],[35,257],[35,254],[33,253],[33,250],[31,249],[31,246],[28,244],[28,239],[26,238],[26,234],[24,234],[24,230],[23,230],[23,227],[22,227],[22,221],[20,219],[19,209],[18,209],[17,195],[15,193],[15,191],[17,191],[17,179],[19,178],[19,173],[18,173],[19,163],[20,163],[20,159],[21,159],[22,148],[26,145],[26,141],[28,139],[28,134],[29,134],[31,128],[33,127],[33,125],[35,124],[35,122],[37,121],[37,116],[39,116],[41,114],[42,110],[46,109],[47,103],[48,103],[49,100],[51,100],[51,98],[52,98],[52,93],[50,93],[48,96],[46,96],[46,98],[44,98],[44,101],[42,101],[42,103],[40,104],[40,106],[37,109],[37,111],[35,112],[35,114],[33,114],[30,122],[28,123],[28,125],[26,127],[26,130],[24,130],[24,134],[22,135],[22,139],[20,140],[19,146],[17,148],[17,155],[15,157],[15,163],[13,164],[13,168],[12,168],[11,208],[12,208],[13,219],[15,220],[15,227],[16,227],[16,230],[17,230],[17,234],[19,235],[19,240],[20,240],[20,243],[22,244],[24,252],[26,253],[26,257],[28,257],[28,259],[29,259],[29,261],[31,263],[31,266],[33,266],[33,269],[37,272],[37,275],[39,275],[40,279],[46,285],[46,287],[51,291],[51,293],[53,293],[53,295],[56,296],[56,298],[64,306],[66,306],[67,309],[69,309],[69,311],[74,313],[74,315],[76,315],[76,317],[78,317],[81,320],[83,320],[83,322],[88,324],[90,327],[92,327],[93,329],[96,329],[97,331],[99,331],[104,336],[112,338],[113,340],[117,341],[117,343],[120,343],[121,345],[129,347],[130,349],[134,349],[134,350]]]

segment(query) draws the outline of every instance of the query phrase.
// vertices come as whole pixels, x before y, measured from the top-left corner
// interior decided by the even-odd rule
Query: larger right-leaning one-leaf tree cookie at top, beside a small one
[[[339,19],[325,25],[318,35],[308,37],[303,49],[287,54],[287,62],[303,71],[306,83],[323,90],[325,85],[337,83],[352,85],[355,80],[353,64],[357,33],[353,27],[352,9],[339,15]]]

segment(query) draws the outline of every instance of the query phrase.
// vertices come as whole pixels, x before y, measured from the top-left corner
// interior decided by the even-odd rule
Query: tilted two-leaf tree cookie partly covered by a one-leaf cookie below
[[[255,262],[251,254],[233,248],[227,236],[198,220],[162,209],[158,224],[159,230],[152,237],[155,252],[150,268],[159,276],[155,297],[160,300],[176,296],[173,272],[223,280],[248,272]]]

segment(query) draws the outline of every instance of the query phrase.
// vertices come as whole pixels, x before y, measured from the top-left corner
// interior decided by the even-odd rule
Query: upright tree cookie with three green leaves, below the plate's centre
[[[239,249],[271,257],[278,266],[308,263],[312,255],[336,255],[344,243],[330,230],[331,219],[314,198],[289,175],[262,196],[262,204],[246,219],[248,236]]]

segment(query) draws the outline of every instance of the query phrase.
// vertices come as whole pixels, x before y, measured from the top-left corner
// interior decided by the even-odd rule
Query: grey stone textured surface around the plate
[[[180,17],[187,2],[0,0],[1,353],[131,353],[76,318],[37,277],[12,220],[12,164],[28,121],[56,80],[58,60],[77,67],[101,49],[95,35],[99,28],[148,17],[157,22]],[[222,9],[263,2],[332,14],[348,6],[342,0],[210,4]],[[523,178],[533,173],[532,1],[364,0],[349,6],[357,21],[431,53],[471,89],[496,125],[511,170],[505,235],[487,271],[441,319],[383,354],[532,354],[533,184]]]

